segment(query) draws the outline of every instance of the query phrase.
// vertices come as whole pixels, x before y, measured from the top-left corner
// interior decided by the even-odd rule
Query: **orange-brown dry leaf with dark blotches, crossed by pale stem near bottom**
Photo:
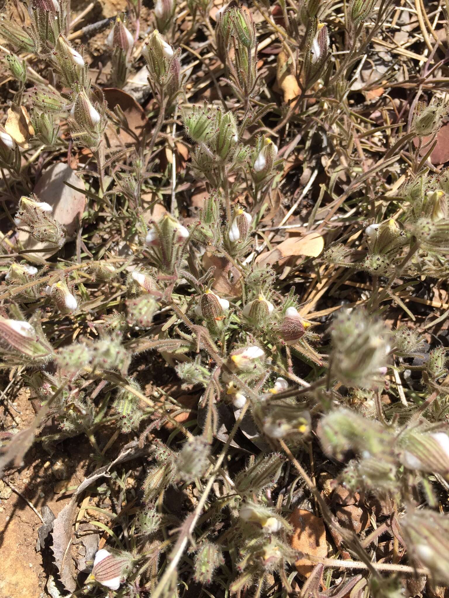
[[[290,515],[293,534],[290,540],[293,550],[311,554],[315,557],[327,557],[326,528],[320,517],[305,509],[296,508]],[[316,563],[308,559],[298,559],[296,569],[301,575],[308,577]]]

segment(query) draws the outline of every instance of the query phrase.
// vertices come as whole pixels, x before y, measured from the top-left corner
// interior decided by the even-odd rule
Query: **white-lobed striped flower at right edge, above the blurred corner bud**
[[[445,432],[404,434],[400,440],[401,463],[408,469],[447,475],[449,473],[449,436]]]

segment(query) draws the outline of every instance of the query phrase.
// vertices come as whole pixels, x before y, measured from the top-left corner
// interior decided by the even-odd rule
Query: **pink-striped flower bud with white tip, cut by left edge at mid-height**
[[[44,334],[23,320],[0,318],[0,342],[36,359],[53,352]]]

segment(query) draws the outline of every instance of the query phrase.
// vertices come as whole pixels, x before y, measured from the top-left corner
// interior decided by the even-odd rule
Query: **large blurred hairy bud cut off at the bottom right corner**
[[[432,573],[436,584],[449,584],[449,517],[430,509],[408,512],[401,532],[411,554]]]

